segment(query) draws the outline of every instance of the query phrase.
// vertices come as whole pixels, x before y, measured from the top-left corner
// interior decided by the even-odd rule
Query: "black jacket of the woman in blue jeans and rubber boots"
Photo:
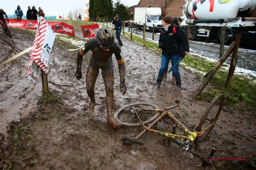
[[[176,27],[176,34],[173,34],[174,25],[170,25],[168,30],[161,29],[159,37],[159,47],[162,49],[163,55],[184,55],[186,52],[186,44],[184,35],[179,27]]]

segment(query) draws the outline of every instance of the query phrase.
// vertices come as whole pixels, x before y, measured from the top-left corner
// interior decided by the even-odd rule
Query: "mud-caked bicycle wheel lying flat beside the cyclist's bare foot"
[[[151,106],[153,108],[150,108],[149,106]],[[132,107],[132,108],[128,109],[129,107]],[[145,103],[145,102],[132,103],[132,104],[128,104],[128,105],[125,105],[124,107],[119,108],[114,113],[114,119],[117,122],[121,123],[125,127],[139,127],[139,126],[142,126],[141,122],[139,122],[139,123],[125,123],[125,122],[119,120],[118,116],[121,115],[120,113],[122,113],[122,114],[128,113],[128,116],[123,116],[123,118],[130,119],[131,121],[134,122],[136,118],[138,119],[138,117],[137,117],[137,114],[138,114],[142,123],[146,125],[146,124],[152,123],[161,114],[160,112],[145,111],[145,110],[142,110],[142,109],[136,110],[136,112],[137,112],[137,114],[136,114],[136,112],[134,110],[135,108],[159,109],[159,107],[157,105],[153,104],[153,103]],[[136,121],[138,122],[139,120],[136,120]]]

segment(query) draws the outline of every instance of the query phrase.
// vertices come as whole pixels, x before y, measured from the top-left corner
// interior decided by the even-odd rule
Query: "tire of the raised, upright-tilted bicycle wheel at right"
[[[195,127],[195,130],[196,131],[198,131],[198,132],[202,132],[202,131],[204,131],[204,130],[201,130],[202,129],[202,125],[203,125],[203,123],[204,123],[204,121],[206,120],[206,118],[207,118],[207,116],[208,116],[208,114],[210,113],[210,111],[211,111],[211,109],[212,109],[212,107],[220,100],[221,101],[221,103],[219,104],[219,108],[218,108],[218,111],[217,111],[217,113],[215,114],[215,117],[214,117],[214,124],[210,127],[210,129],[208,129],[207,131],[205,131],[203,134],[205,134],[204,136],[197,136],[196,137],[196,139],[195,139],[195,144],[196,145],[199,145],[209,134],[210,134],[210,132],[212,131],[212,129],[213,129],[213,127],[214,127],[214,125],[216,124],[216,121],[217,121],[217,119],[218,119],[218,117],[219,117],[219,114],[221,113],[221,110],[222,110],[222,107],[223,107],[223,104],[224,104],[224,98],[225,98],[225,95],[224,94],[222,94],[222,93],[220,93],[220,94],[218,94],[213,100],[212,100],[212,102],[210,103],[210,105],[207,107],[207,109],[206,109],[206,111],[204,112],[204,114],[203,114],[203,116],[202,116],[202,118],[201,118],[201,120],[200,120],[200,122],[197,124],[197,126]],[[207,126],[207,128],[208,128],[209,126]]]

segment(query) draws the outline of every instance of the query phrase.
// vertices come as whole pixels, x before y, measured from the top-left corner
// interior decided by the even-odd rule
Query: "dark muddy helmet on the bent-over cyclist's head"
[[[97,31],[96,37],[101,48],[110,48],[114,45],[115,38],[113,32],[106,27],[101,27]]]

